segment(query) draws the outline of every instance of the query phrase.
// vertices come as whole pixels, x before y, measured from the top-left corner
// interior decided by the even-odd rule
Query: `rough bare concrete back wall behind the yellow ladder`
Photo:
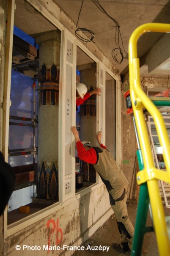
[[[141,77],[141,86],[145,93],[148,90],[160,88],[160,91],[166,90],[170,86],[170,81],[165,77]],[[139,186],[136,182],[136,173],[138,171],[138,162],[136,159],[136,135],[132,115],[126,114],[125,92],[129,85],[122,85],[122,170],[129,181],[129,198],[138,198]],[[159,92],[159,89],[156,93]]]

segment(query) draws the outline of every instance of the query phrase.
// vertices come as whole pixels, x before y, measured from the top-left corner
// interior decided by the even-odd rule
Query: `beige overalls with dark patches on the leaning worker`
[[[94,146],[93,149],[96,150],[98,156],[98,161],[93,166],[109,192],[110,205],[115,213],[121,235],[120,244],[128,241],[129,248],[132,249],[134,227],[129,219],[126,204],[129,183],[107,149],[100,146]]]

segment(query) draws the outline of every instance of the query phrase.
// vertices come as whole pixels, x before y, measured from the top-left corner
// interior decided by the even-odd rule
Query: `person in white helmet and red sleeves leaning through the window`
[[[83,104],[91,95],[100,95],[100,93],[100,88],[96,88],[93,91],[88,92],[88,88],[84,83],[76,83],[76,111],[78,110],[77,107]]]

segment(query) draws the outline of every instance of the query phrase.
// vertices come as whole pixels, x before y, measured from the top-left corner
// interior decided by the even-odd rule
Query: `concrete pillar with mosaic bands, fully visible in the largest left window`
[[[58,96],[60,31],[36,36],[39,45],[40,106],[37,195],[58,200]]]

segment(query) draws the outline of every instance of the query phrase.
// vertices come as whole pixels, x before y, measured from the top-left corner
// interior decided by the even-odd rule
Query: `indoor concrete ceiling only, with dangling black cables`
[[[95,4],[94,0],[53,0],[71,20],[77,24],[78,28],[86,28],[93,31],[93,42],[110,59],[115,68],[119,70],[122,80],[128,78],[128,44],[132,32],[145,23],[170,23],[170,0],[99,0],[108,17]],[[81,12],[80,8],[82,6]],[[78,20],[78,15],[80,17]],[[123,44],[120,39],[120,48],[123,51],[123,62],[116,63],[112,58],[112,50],[118,46],[115,43],[115,19],[120,25],[120,32]],[[89,33],[86,36],[91,38]],[[118,35],[117,35],[118,36]],[[137,43],[138,57],[141,58],[141,76],[161,76],[167,77],[170,73],[170,51],[168,45],[164,47],[162,39],[162,49],[159,52],[159,40],[163,33],[145,33]],[[118,40],[118,38],[116,38]],[[166,37],[170,42],[170,34]],[[157,47],[154,49],[154,45]],[[164,51],[164,54],[162,53]],[[156,56],[155,56],[156,52]],[[159,55],[160,54],[160,55]],[[164,57],[162,58],[162,56]],[[154,58],[156,57],[156,61]],[[121,55],[117,54],[118,61]],[[158,60],[157,60],[158,59]],[[149,62],[154,62],[149,67]],[[148,72],[149,69],[149,72]]]

